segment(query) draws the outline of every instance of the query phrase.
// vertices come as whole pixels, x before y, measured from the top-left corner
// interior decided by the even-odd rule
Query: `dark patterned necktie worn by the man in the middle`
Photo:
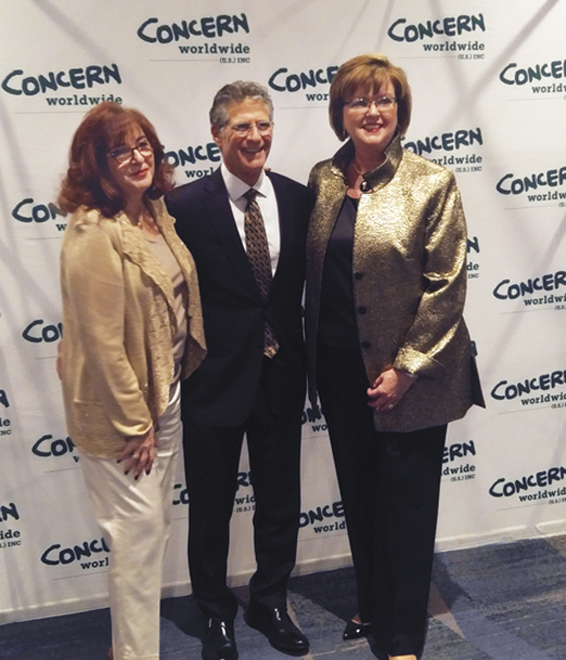
[[[256,278],[257,285],[263,300],[267,298],[271,284],[271,257],[269,255],[268,235],[259,205],[256,200],[257,191],[249,188],[244,195],[247,199],[244,212],[244,233],[246,235],[246,253]],[[270,325],[266,322],[263,331],[263,354],[273,357],[279,351],[279,342]]]

